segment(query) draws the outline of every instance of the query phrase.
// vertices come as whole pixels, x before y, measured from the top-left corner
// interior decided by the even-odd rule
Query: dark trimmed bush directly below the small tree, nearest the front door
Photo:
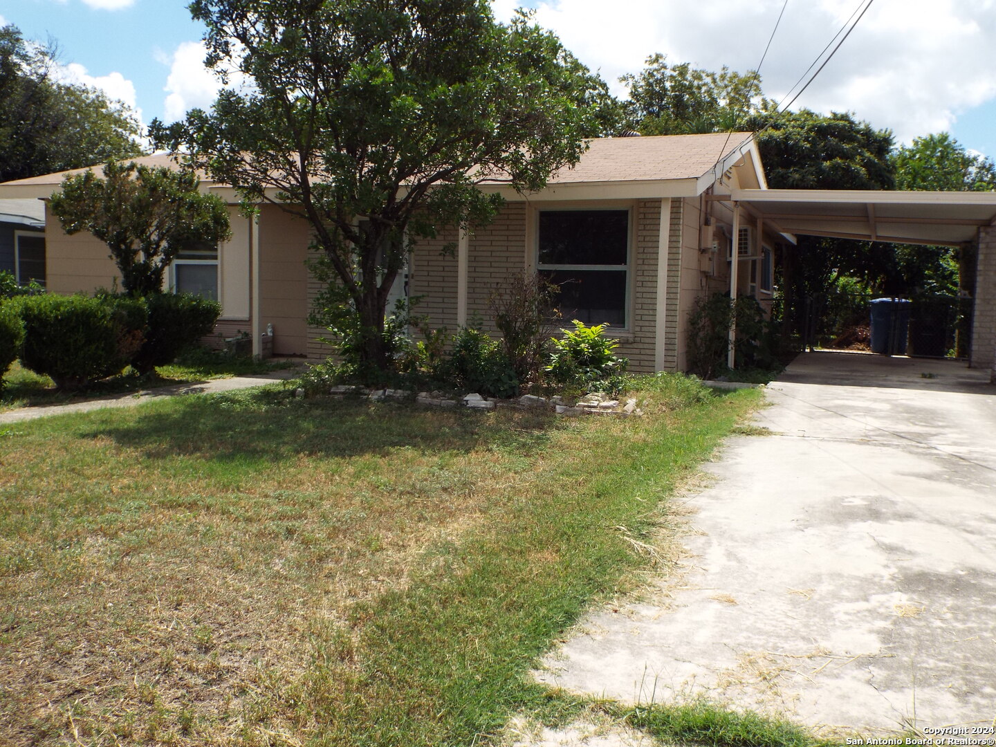
[[[156,293],[145,297],[148,329],[131,361],[138,373],[171,364],[205,335],[221,316],[221,304],[193,294]]]

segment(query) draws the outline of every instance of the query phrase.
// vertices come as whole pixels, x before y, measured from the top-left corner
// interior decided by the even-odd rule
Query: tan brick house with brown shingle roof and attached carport
[[[499,182],[481,189],[507,201],[497,220],[471,235],[442,230],[415,247],[395,298],[417,298],[414,311],[455,331],[479,315],[510,275],[537,271],[564,283],[566,321],[608,322],[630,371],[685,368],[685,328],[695,301],[717,291],[771,298],[775,255],[795,234],[907,243],[961,243],[980,236],[976,346],[988,366],[996,348],[996,194],[769,190],[748,132],[609,137],[590,142],[577,166],[554,174],[541,192],[520,195]],[[136,159],[168,164],[167,156]],[[0,185],[0,197],[47,197],[65,174]],[[202,188],[228,201],[232,239],[184,255],[169,283],[217,298],[218,332],[253,333],[268,325],[274,353],[324,358],[323,331],[308,326],[320,287],[309,277],[306,221],[264,204],[241,216],[230,187]],[[58,293],[108,287],[116,268],[90,235],[67,236],[47,218],[48,287]],[[455,256],[442,252],[457,247]],[[735,247],[735,252],[734,252]],[[732,261],[733,256],[736,260]],[[568,281],[568,282],[565,282]],[[491,330],[493,331],[493,329]]]

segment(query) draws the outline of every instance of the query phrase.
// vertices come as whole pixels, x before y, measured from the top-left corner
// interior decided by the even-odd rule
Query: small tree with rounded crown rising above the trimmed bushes
[[[186,169],[111,162],[104,178],[94,171],[67,176],[50,209],[67,233],[90,231],[105,242],[124,291],[147,296],[162,290],[177,253],[231,235],[224,200],[202,194],[199,183]]]

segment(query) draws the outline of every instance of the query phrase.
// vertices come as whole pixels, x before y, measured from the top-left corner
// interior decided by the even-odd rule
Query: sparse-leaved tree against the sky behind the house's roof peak
[[[624,75],[620,81],[629,90],[628,125],[641,134],[731,131],[773,106],[764,99],[755,71],[723,67],[712,73],[688,63],[668,65],[661,54],[648,57],[638,75]]]

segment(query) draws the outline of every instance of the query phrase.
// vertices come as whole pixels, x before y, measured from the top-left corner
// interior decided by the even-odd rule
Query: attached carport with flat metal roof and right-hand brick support
[[[969,366],[996,372],[996,192],[734,189],[730,199],[735,214],[745,211],[792,243],[809,235],[976,245]]]

